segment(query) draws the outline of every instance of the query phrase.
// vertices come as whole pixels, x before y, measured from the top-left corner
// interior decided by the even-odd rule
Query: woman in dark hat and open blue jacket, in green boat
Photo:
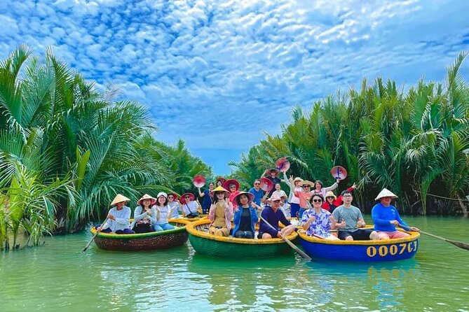
[[[259,221],[257,211],[252,206],[254,195],[250,192],[240,192],[234,198],[238,208],[234,211],[233,236],[238,239],[254,239],[254,225]]]

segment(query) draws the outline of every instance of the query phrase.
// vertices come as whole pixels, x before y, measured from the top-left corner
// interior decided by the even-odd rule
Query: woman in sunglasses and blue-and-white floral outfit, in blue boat
[[[321,208],[322,201],[323,199],[320,194],[314,194],[309,199],[312,207],[303,213],[301,226],[306,230],[306,235],[320,236],[322,239],[338,241],[339,239],[336,236],[329,233],[332,224],[330,220],[331,213]]]

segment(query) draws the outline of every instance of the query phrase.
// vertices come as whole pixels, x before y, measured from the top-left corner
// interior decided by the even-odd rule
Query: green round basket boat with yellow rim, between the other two
[[[210,220],[198,220],[187,225],[189,241],[196,253],[212,257],[254,258],[273,257],[291,253],[292,248],[283,239],[237,239],[234,237],[215,236],[208,233]],[[297,237],[293,232],[287,239]],[[257,235],[256,235],[257,236]]]

